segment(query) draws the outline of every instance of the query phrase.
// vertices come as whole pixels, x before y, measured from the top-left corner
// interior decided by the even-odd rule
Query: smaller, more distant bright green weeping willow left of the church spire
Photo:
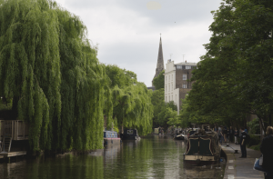
[[[120,69],[116,65],[106,65],[106,74],[111,80],[113,119],[116,124],[132,127],[139,134],[147,134],[152,129],[152,92],[136,80],[136,74]]]

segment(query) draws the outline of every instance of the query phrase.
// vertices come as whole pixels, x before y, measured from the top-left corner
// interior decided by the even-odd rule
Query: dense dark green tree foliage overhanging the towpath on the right
[[[273,109],[273,3],[225,0],[212,13],[212,36],[193,72],[187,111],[226,124],[257,114],[268,124]]]

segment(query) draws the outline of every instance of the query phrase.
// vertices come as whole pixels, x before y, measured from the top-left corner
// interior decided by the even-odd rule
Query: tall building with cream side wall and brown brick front
[[[177,104],[177,114],[181,109],[181,99],[184,99],[191,90],[193,82],[192,71],[197,68],[197,63],[179,63],[168,60],[165,70],[165,102],[173,101]]]

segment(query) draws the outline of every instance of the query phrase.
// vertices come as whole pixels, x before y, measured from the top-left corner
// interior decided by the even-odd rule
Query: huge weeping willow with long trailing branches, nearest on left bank
[[[0,0],[0,12],[0,94],[32,149],[101,148],[109,79],[86,26],[50,0]]]

